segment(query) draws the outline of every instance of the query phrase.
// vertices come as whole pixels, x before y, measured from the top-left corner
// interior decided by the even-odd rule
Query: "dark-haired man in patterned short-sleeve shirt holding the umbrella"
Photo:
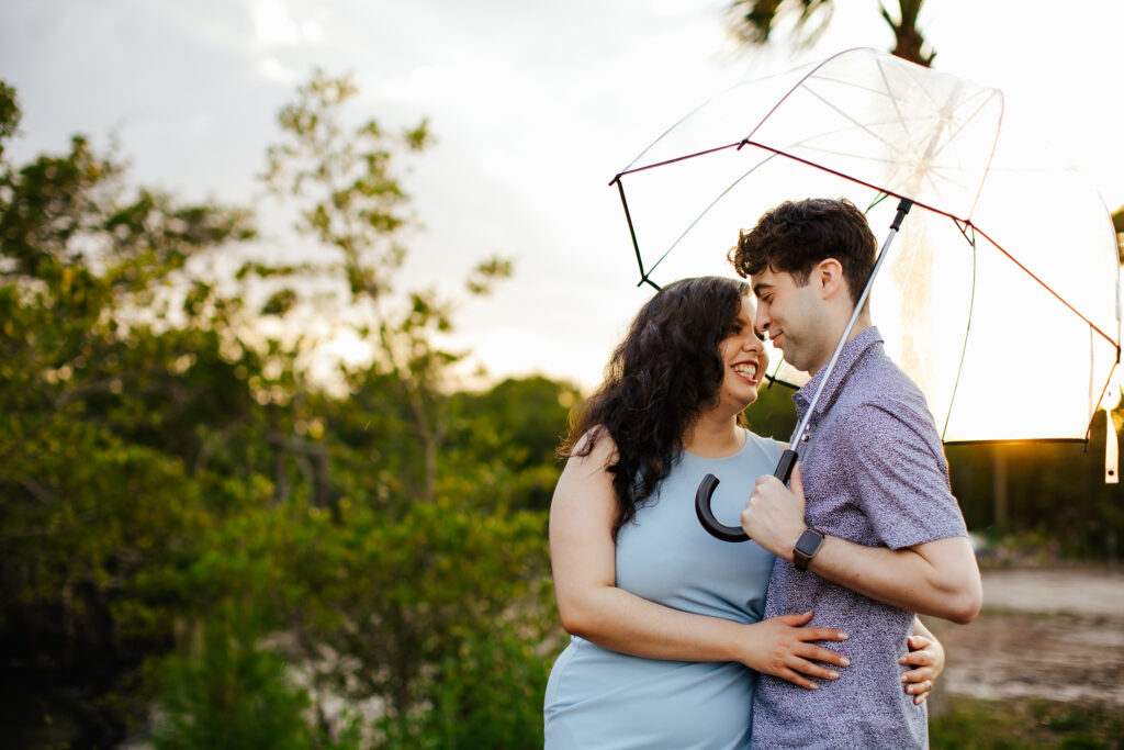
[[[768,211],[731,251],[758,298],[759,332],[813,376],[794,396],[800,418],[876,249],[852,204],[804,200]],[[914,613],[968,623],[979,612],[981,586],[933,417],[921,390],[886,355],[868,308],[797,450],[801,463],[791,489],[759,478],[742,527],[780,558],[765,616],[814,611],[813,624],[845,629],[850,639],[839,650],[851,666],[812,692],[763,675],[753,741],[769,748],[926,747],[926,707],[903,690],[897,657]]]

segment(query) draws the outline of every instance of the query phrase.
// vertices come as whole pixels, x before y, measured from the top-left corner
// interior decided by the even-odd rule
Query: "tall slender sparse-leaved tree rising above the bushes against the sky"
[[[297,229],[328,252],[320,268],[346,279],[347,319],[372,351],[371,365],[351,372],[350,386],[362,391],[378,381],[396,389],[395,401],[405,407],[399,416],[422,449],[420,497],[432,503],[445,430],[439,391],[460,355],[436,344],[452,328],[451,304],[433,290],[395,288],[407,254],[399,236],[413,217],[391,163],[396,153],[420,152],[432,138],[425,121],[398,135],[377,120],[348,129],[343,108],[356,92],[350,78],[320,71],[300,87],[297,101],[279,116],[284,139],[270,147],[264,179],[278,195],[302,201]],[[466,289],[487,293],[510,272],[510,262],[489,259],[477,265]]]

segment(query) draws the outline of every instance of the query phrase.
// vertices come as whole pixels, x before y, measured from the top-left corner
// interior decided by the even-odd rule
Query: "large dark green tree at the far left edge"
[[[19,115],[0,84],[0,154]],[[66,714],[109,743],[126,721],[114,695],[170,643],[183,598],[158,581],[211,504],[239,495],[190,475],[200,436],[237,418],[237,388],[220,383],[241,363],[214,327],[178,326],[175,290],[192,259],[252,235],[241,209],[129,189],[81,136],[21,166],[0,159],[6,725]]]

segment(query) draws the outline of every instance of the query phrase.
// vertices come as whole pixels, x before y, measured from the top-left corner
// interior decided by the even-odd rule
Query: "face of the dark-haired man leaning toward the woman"
[[[783,353],[785,361],[809,373],[826,364],[833,328],[815,283],[815,272],[801,286],[791,273],[767,268],[752,274],[750,284],[758,298],[753,326],[769,334],[769,341]]]

